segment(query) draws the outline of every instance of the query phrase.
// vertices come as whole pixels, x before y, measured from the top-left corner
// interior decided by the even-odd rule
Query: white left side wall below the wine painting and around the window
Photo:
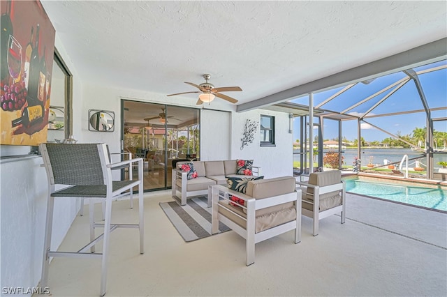
[[[75,67],[56,36],[55,45],[73,74],[73,109],[80,106],[82,84]],[[77,112],[73,112],[76,116]],[[8,146],[8,155],[23,148]],[[27,149],[29,151],[29,148]],[[3,152],[3,147],[2,147]],[[43,237],[47,206],[47,176],[42,158],[2,159],[0,164],[1,287],[36,287],[41,280]],[[79,201],[57,201],[52,249],[57,249],[71,227]]]

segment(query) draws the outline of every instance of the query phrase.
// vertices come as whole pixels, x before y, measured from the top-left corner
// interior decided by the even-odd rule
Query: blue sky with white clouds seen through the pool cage
[[[420,84],[423,86],[423,93],[430,109],[447,106],[447,61],[444,60],[441,62],[432,63],[430,65],[414,68],[416,73],[418,73],[420,71],[439,66],[441,67],[440,70],[418,74],[418,79]],[[374,96],[378,91],[395,82],[399,82],[400,79],[405,79],[406,77],[407,76],[405,73],[399,72],[386,75],[384,77],[379,77],[369,84],[356,84],[356,86],[353,86],[348,91],[345,91],[330,102],[325,103],[325,105],[321,108],[335,112],[342,112],[349,109],[349,107],[355,103],[371,97],[358,107],[346,111],[346,114],[362,115],[373,105],[375,105],[376,102],[379,102],[379,100],[381,100],[384,96],[387,96],[389,93],[393,92],[398,84],[388,89],[388,91]],[[329,98],[343,88],[344,86],[321,93],[314,93],[314,106],[318,105],[320,102],[323,102],[323,100]],[[291,102],[308,105],[309,96],[297,98],[291,100]],[[386,98],[386,100],[372,109],[368,115],[372,116],[389,114],[393,112],[407,112],[418,109],[424,109],[423,102],[420,100],[415,82],[410,79],[400,89],[395,91],[395,93],[392,93],[388,98]],[[431,117],[432,119],[447,118],[447,110],[444,109],[441,111],[432,112]],[[427,125],[425,112],[380,116],[366,119],[366,121],[390,132],[393,135],[411,135],[415,128],[424,128]],[[447,121],[434,122],[434,130],[447,132]],[[357,121],[343,121],[342,133],[342,137],[346,137],[348,140],[353,141],[354,139],[357,139]],[[380,142],[387,137],[391,137],[381,130],[368,125],[367,123],[362,123],[361,133],[362,137],[367,142]],[[338,122],[325,120],[323,123],[323,139],[334,139],[337,136]],[[294,120],[293,137],[294,139],[300,138],[300,120],[298,118]]]

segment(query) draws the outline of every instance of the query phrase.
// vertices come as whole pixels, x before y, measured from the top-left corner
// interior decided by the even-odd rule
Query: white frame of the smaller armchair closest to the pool
[[[313,222],[313,229],[312,234],[314,236],[318,235],[318,221],[323,218],[328,218],[330,215],[335,215],[337,213],[341,213],[341,223],[344,224],[346,221],[346,183],[344,181],[341,181],[340,183],[335,183],[333,185],[325,185],[323,187],[320,187],[319,185],[313,185],[311,183],[305,183],[302,181],[296,182],[298,185],[302,185],[308,188],[314,188],[314,202],[307,201],[305,199],[302,200],[302,203],[312,204],[313,205],[313,211],[309,211],[309,209],[302,208],[302,215],[307,216],[308,218],[312,218]],[[342,192],[342,205],[335,206],[333,208],[329,208],[325,211],[318,211],[320,206],[320,195],[323,195],[325,193],[329,192],[335,192],[335,191],[341,191]],[[312,195],[310,193],[306,193],[307,195]]]

